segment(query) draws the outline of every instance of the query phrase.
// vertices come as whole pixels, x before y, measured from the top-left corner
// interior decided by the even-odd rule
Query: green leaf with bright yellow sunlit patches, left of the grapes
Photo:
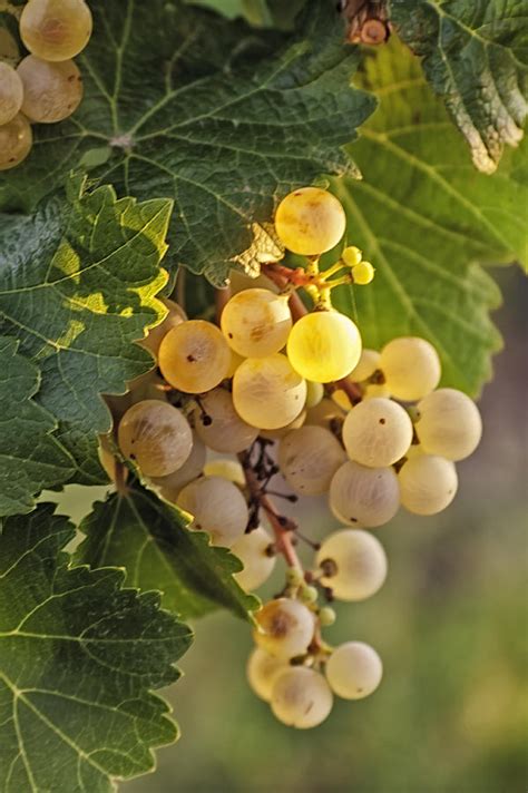
[[[69,193],[32,216],[0,215],[0,334],[38,364],[36,399],[59,422],[76,481],[89,484],[105,481],[94,449],[111,422],[100,393],[124,393],[153,365],[133,341],[165,313],[155,295],[172,204],[117,200],[111,187],[87,192],[78,179]]]

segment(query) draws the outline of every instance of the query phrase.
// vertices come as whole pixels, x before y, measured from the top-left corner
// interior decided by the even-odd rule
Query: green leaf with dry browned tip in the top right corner
[[[526,0],[391,0],[391,19],[446,101],[473,163],[491,174],[528,109]]]

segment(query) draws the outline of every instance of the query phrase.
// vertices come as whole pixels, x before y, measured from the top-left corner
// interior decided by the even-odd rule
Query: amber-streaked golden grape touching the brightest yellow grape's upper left
[[[265,358],[282,350],[292,327],[287,300],[258,288],[234,295],[221,319],[228,345],[244,358]]]

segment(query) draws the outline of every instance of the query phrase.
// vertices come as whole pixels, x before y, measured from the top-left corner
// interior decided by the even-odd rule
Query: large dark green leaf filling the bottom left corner
[[[0,789],[109,793],[176,740],[151,691],[178,678],[192,633],[121,570],[68,567],[75,529],[52,511],[0,535]]]

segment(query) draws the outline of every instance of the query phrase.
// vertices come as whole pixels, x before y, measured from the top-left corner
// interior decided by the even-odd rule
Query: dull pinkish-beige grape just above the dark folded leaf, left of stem
[[[195,479],[180,491],[177,505],[194,516],[194,529],[208,531],[213,545],[226,548],[242,537],[250,518],[236,484],[221,477]]]

